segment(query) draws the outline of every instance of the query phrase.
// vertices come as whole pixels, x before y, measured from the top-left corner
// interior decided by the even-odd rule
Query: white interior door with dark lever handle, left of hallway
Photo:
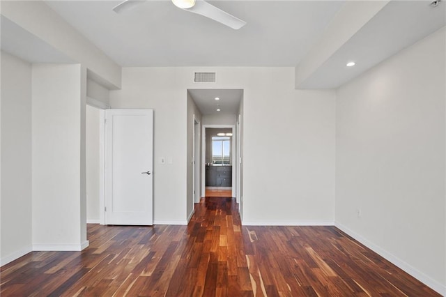
[[[105,224],[153,224],[153,110],[105,111]]]

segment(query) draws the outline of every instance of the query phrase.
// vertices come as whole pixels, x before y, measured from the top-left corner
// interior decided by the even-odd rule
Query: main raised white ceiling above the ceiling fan
[[[344,1],[208,1],[247,25],[233,30],[146,1],[126,13],[120,1],[45,1],[121,66],[296,66]]]

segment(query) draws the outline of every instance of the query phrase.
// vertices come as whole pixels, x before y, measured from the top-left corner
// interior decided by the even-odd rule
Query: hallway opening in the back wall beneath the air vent
[[[220,183],[217,182],[215,185],[217,189],[214,189],[219,192],[214,192],[213,194],[222,197],[235,197],[238,204],[242,201],[243,184],[241,178],[243,178],[243,169],[241,153],[243,151],[243,128],[241,125],[238,126],[238,119],[240,119],[240,115],[243,119],[243,93],[243,89],[187,89],[187,126],[190,127],[187,128],[188,144],[190,144],[188,164],[190,164],[191,158],[192,160],[195,158],[195,164],[192,167],[194,167],[196,172],[199,171],[199,174],[193,172],[192,169],[190,171],[188,169],[187,172],[187,215],[190,215],[190,210],[193,209],[189,206],[190,201],[197,203],[203,197],[209,196],[209,189],[206,194],[206,167],[210,170],[211,165],[213,167],[220,166],[220,170],[228,169],[223,169],[222,167],[224,166],[230,165],[232,167],[229,170],[231,172],[229,174],[231,176],[229,178],[230,184],[222,184],[223,181],[227,181],[228,177],[221,176],[220,174]],[[195,115],[200,121],[201,127],[199,129],[201,133],[199,143],[192,135],[195,131],[195,122],[192,119],[192,115]],[[222,164],[228,159],[227,153],[225,159],[225,151],[220,151],[220,160],[209,160],[209,158],[206,160],[206,151],[212,154],[212,144],[208,144],[206,148],[206,139],[208,138],[206,136],[206,128],[227,128],[229,129],[228,132],[232,133],[231,143],[229,144],[231,148],[229,156],[229,160],[231,160],[230,164]],[[195,135],[198,135],[198,133],[195,132]],[[192,144],[196,148],[195,151],[193,151]],[[200,146],[199,155],[197,155],[197,146]],[[223,149],[222,146],[219,146],[219,148],[220,150]],[[198,158],[200,161],[197,166]],[[197,183],[197,179],[192,182],[192,178],[199,178],[199,183]],[[192,196],[193,187],[195,187],[194,196]],[[197,191],[197,188],[200,190]],[[201,194],[201,197],[197,197],[197,192]],[[194,197],[194,199],[190,199],[190,197]]]

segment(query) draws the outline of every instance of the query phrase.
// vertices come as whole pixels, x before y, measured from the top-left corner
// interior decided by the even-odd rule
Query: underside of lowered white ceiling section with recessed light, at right
[[[300,84],[302,89],[336,89],[393,54],[446,25],[446,3],[390,1],[360,31]],[[346,67],[347,61],[356,66]]]

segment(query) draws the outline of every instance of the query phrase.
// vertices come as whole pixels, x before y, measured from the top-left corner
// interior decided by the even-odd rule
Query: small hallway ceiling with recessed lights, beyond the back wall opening
[[[187,90],[201,114],[238,114],[243,90],[240,89],[189,89]],[[215,100],[215,98],[220,100]],[[220,108],[220,112],[217,112]]]

